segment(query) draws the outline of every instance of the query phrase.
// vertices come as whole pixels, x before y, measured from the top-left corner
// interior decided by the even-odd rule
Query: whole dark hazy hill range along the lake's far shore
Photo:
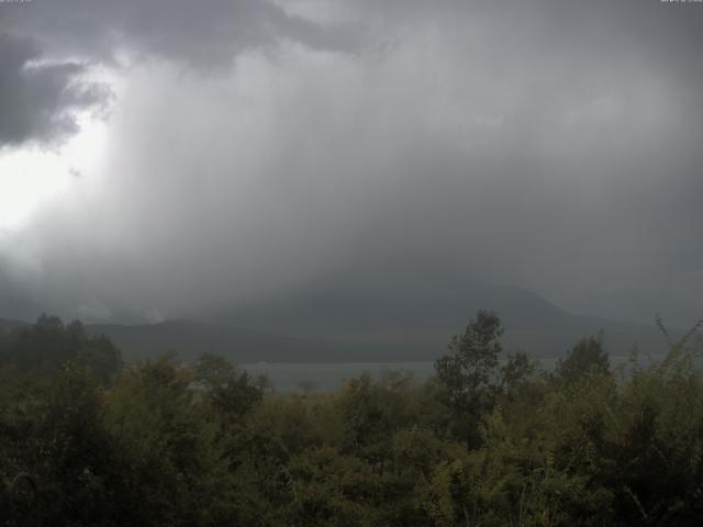
[[[421,299],[421,301],[416,300]],[[109,336],[125,358],[176,351],[192,358],[202,351],[236,362],[392,362],[434,360],[446,351],[477,310],[498,312],[505,326],[504,348],[534,357],[558,357],[585,335],[604,332],[612,355],[635,343],[648,354],[666,351],[651,325],[618,323],[568,313],[518,288],[470,287],[447,294],[422,291],[376,299],[311,294],[294,301],[222,310],[217,323],[168,321],[160,324],[89,324],[90,334]],[[0,319],[0,330],[24,322]],[[670,329],[676,338],[682,332]]]

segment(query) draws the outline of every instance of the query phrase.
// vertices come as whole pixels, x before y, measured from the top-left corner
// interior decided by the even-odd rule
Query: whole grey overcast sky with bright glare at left
[[[0,0],[0,316],[511,284],[703,316],[703,3]]]

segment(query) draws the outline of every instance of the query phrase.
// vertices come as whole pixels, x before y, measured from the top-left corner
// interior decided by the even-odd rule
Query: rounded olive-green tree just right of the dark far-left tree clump
[[[191,383],[190,370],[161,357],[126,368],[107,393],[105,428],[124,463],[123,525],[207,525],[219,452]]]

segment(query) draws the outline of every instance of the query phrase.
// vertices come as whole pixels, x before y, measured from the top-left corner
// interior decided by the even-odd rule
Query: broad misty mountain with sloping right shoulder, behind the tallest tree
[[[503,285],[466,284],[442,291],[421,284],[415,292],[386,292],[372,299],[319,292],[223,310],[219,319],[235,319],[264,333],[324,337],[342,346],[343,356],[355,358],[349,360],[434,360],[478,310],[500,315],[505,349],[520,348],[535,357],[558,357],[582,336],[600,330],[613,355],[624,355],[635,344],[652,355],[666,351],[654,319],[641,325],[576,315],[532,291]],[[670,333],[682,334],[673,328]]]

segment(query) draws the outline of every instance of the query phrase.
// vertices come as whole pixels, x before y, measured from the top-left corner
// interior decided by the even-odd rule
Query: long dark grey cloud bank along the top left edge
[[[322,26],[266,0],[37,0],[7,11],[7,25],[36,35],[47,49],[107,59],[155,54],[208,68],[282,38],[319,49],[358,46],[348,24]]]

